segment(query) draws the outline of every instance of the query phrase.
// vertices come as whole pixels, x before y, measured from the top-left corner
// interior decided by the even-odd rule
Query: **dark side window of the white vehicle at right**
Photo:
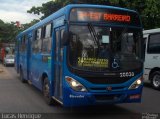
[[[148,53],[160,53],[160,33],[149,36]]]

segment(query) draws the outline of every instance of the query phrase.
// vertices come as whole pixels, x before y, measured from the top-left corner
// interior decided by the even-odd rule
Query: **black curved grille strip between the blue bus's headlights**
[[[90,83],[93,84],[120,84],[128,81],[130,78],[128,77],[85,77],[85,80],[87,80]]]

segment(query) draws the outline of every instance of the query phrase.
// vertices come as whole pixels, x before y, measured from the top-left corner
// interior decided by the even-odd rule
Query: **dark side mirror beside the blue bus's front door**
[[[62,40],[61,40],[61,45],[62,46],[66,46],[69,42],[69,32],[64,30],[63,34],[62,34]]]

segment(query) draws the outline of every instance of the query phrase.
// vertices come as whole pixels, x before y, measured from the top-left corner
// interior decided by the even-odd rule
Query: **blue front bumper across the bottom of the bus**
[[[127,91],[110,91],[106,93],[75,92],[70,88],[64,90],[63,105],[65,107],[104,105],[118,103],[141,102],[142,88]]]

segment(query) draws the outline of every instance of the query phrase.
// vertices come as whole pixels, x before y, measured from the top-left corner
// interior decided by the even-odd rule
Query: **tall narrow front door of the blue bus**
[[[63,62],[63,46],[61,46],[61,36],[64,27],[55,29],[55,54],[54,54],[54,97],[62,100],[62,62]]]

